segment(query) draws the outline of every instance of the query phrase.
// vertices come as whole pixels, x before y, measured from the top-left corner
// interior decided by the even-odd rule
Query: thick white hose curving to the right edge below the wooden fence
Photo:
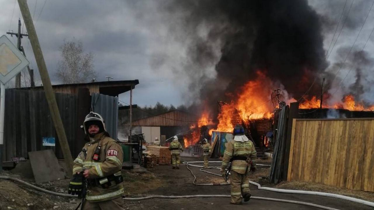
[[[194,161],[193,163],[197,163],[197,162],[203,163],[203,161]],[[219,162],[219,161],[215,161],[215,162]],[[190,162],[186,162],[186,163],[188,164]],[[188,164],[188,165],[189,166],[193,166],[193,167],[200,167],[200,168],[202,167],[202,166],[191,165],[191,164]],[[201,170],[201,171],[202,172],[206,172],[204,170]],[[210,174],[213,174],[213,175],[221,176],[221,175],[218,175],[218,174],[215,174],[215,173],[211,173],[211,172],[206,172],[206,173],[210,173]],[[333,194],[333,193],[328,193],[328,192],[316,192],[316,191],[305,191],[305,190],[294,190],[294,189],[269,188],[269,187],[262,187],[259,183],[256,183],[256,182],[249,181],[249,183],[251,183],[252,185],[256,185],[258,187],[258,189],[260,189],[260,190],[267,190],[267,191],[281,192],[281,193],[304,194],[304,195],[318,195],[318,196],[324,196],[324,197],[339,198],[339,199],[343,199],[343,200],[347,200],[347,201],[352,201],[352,202],[355,202],[355,203],[364,204],[364,205],[367,205],[367,206],[374,207],[374,203],[373,202],[365,201],[365,200],[358,199],[358,198],[352,198],[352,197],[349,197],[349,196],[346,196],[346,195],[338,195],[338,194]]]

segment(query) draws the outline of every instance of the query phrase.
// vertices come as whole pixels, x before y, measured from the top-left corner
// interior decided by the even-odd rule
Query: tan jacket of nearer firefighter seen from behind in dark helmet
[[[234,140],[226,144],[221,167],[225,168],[231,162],[231,170],[245,174],[245,172],[249,172],[251,167],[256,167],[256,153],[255,146],[251,140],[248,138],[243,140],[242,136],[235,136]],[[247,163],[247,158],[251,161],[252,166]]]

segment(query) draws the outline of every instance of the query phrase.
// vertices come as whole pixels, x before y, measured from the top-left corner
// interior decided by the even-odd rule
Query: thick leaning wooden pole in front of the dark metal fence
[[[18,0],[19,9],[21,9],[22,17],[25,21],[26,29],[30,38],[31,47],[36,59],[36,64],[38,65],[40,77],[42,78],[44,92],[46,94],[46,99],[49,105],[49,111],[52,115],[53,124],[55,125],[58,140],[61,145],[62,154],[64,155],[67,176],[73,173],[73,158],[71,157],[71,152],[69,144],[66,138],[64,125],[62,124],[61,115],[58,110],[55,94],[53,93],[52,84],[49,79],[49,74],[47,71],[47,66],[44,61],[42,49],[40,48],[38,36],[36,34],[33,20],[31,19],[30,10],[28,9],[26,0]]]

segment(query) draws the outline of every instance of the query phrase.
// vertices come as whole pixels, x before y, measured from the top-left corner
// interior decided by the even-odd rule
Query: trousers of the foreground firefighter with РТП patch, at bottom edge
[[[85,200],[83,210],[122,210],[125,208],[122,196],[108,201],[90,202]]]

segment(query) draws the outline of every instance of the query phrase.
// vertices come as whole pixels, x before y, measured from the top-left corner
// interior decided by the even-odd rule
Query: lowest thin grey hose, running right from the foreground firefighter
[[[169,199],[178,199],[178,198],[230,198],[231,195],[175,195],[175,196],[167,196],[167,195],[148,195],[145,197],[139,197],[139,198],[123,198],[123,200],[126,201],[140,201],[140,200],[146,200],[146,199],[152,199],[152,198],[169,198]],[[251,196],[251,199],[255,200],[266,200],[266,201],[276,201],[276,202],[283,202],[283,203],[292,203],[292,204],[301,204],[305,206],[312,206],[319,209],[326,209],[326,210],[339,210],[327,206],[321,206],[318,204],[313,203],[307,203],[302,201],[293,201],[293,200],[284,200],[284,199],[278,199],[278,198],[266,198],[266,197],[257,197],[257,196]]]

